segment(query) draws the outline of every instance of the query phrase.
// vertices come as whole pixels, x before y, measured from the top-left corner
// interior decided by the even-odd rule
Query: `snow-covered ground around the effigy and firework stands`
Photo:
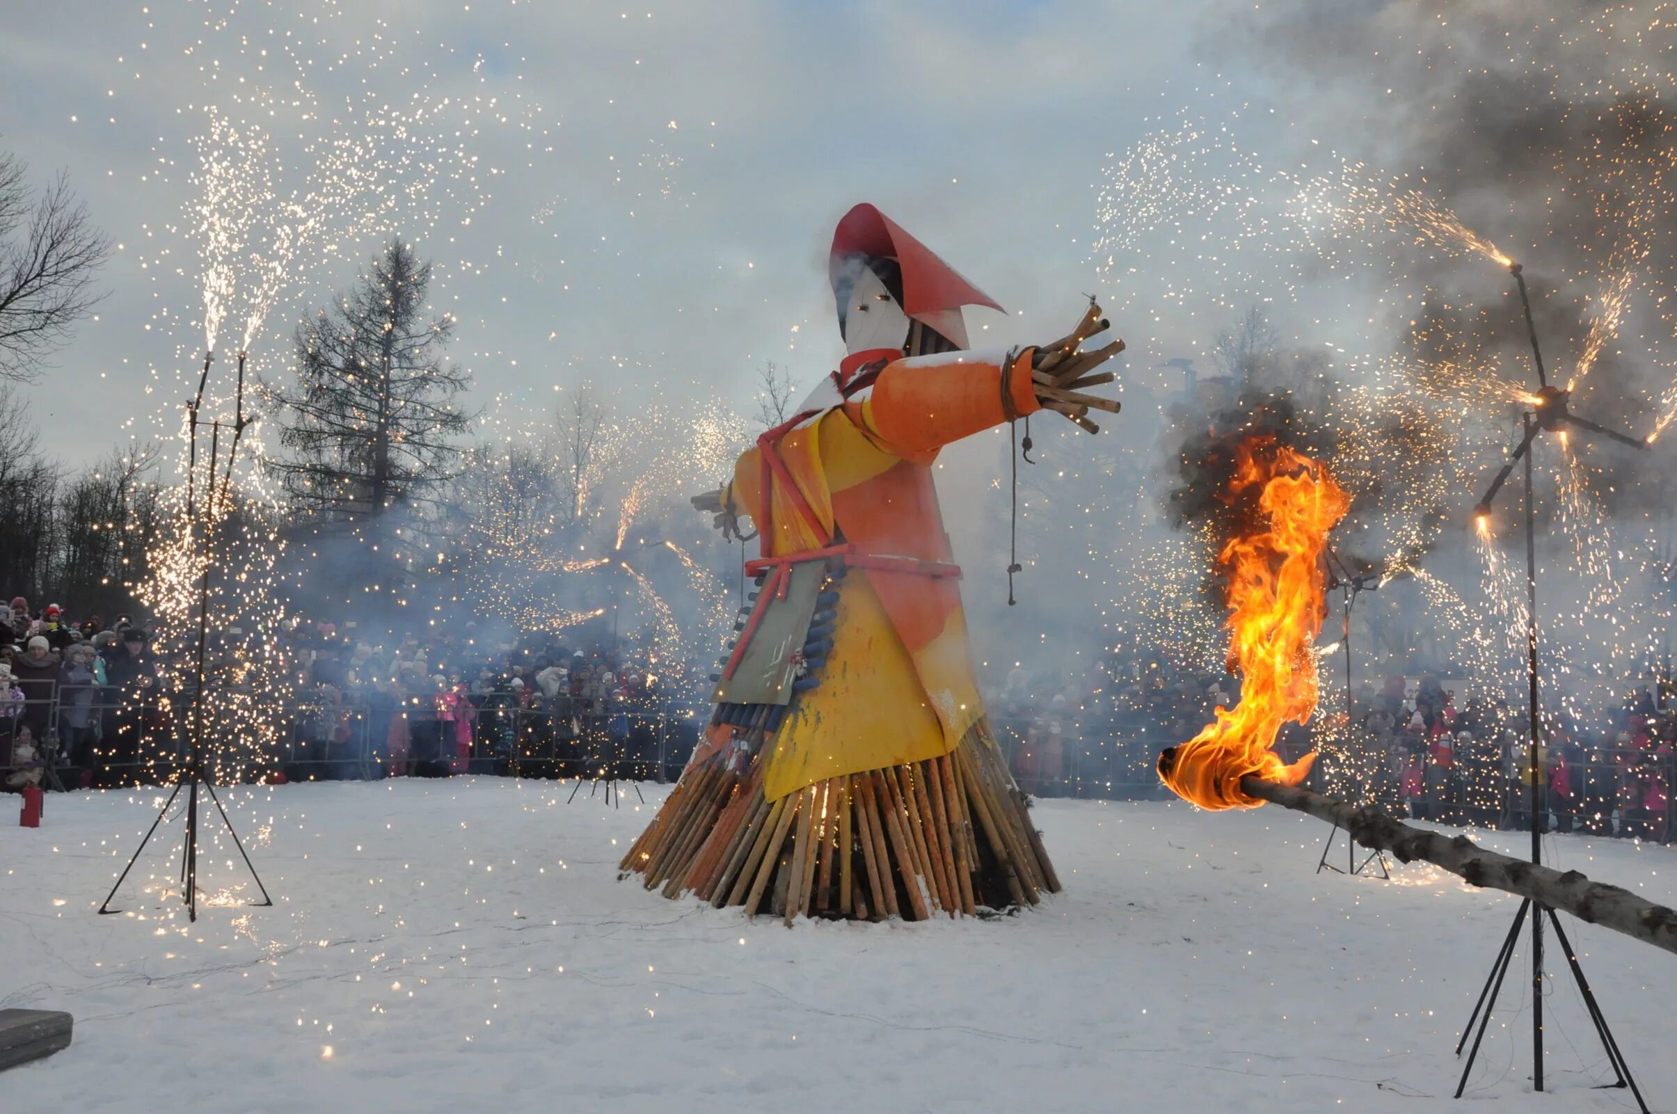
[[[0,1005],[70,1010],[75,1044],[0,1074],[0,1109],[1538,1106],[1513,976],[1474,1102],[1449,1102],[1457,1028],[1518,903],[1432,867],[1316,876],[1327,827],[1276,807],[1043,802],[1067,891],[1033,913],[787,929],[615,881],[662,789],[620,810],[569,792],[228,790],[275,908],[196,924],[161,896],[171,827],[124,886],[127,914],[94,914],[161,799],[49,797],[39,830],[5,799]],[[230,854],[203,864],[208,891],[243,881]],[[1550,854],[1677,901],[1677,849],[1563,836]],[[1650,1106],[1677,1109],[1677,956],[1568,929]],[[1591,1089],[1608,1069],[1570,978],[1546,1018],[1541,1109],[1632,1109]]]

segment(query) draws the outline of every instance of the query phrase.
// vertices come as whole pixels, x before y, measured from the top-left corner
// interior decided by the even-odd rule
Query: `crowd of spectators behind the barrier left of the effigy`
[[[647,777],[691,748],[693,713],[671,715],[636,641],[480,636],[456,629],[367,639],[354,624],[283,632],[290,691],[267,711],[282,738],[250,777],[443,777],[468,768]],[[215,632],[218,661],[241,631]],[[184,663],[176,663],[184,664]],[[116,787],[166,777],[186,748],[191,669],[166,673],[127,616],[72,619],[13,599],[0,621],[0,783]]]

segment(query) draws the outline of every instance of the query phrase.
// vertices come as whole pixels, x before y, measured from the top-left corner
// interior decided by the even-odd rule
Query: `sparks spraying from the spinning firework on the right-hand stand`
[[[1534,27],[1519,64],[1560,81],[1591,34],[1645,37],[1622,17],[1583,12],[1585,34]],[[1296,149],[1269,158],[1243,141],[1243,111],[1157,121],[1157,131],[1108,159],[1097,183],[1090,257],[1102,304],[1114,320],[1135,322],[1127,336],[1134,366],[1192,356],[1201,388],[1204,376],[1229,376],[1233,401],[1253,371],[1221,364],[1209,342],[1219,325],[1263,307],[1276,342],[1259,384],[1285,391],[1308,428],[1337,440],[1328,460],[1357,500],[1343,544],[1375,564],[1380,587],[1419,607],[1380,622],[1412,638],[1437,632],[1446,663],[1467,669],[1476,693],[1513,695],[1526,649],[1524,575],[1501,549],[1521,544],[1519,534],[1499,537],[1489,523],[1476,534],[1469,522],[1509,426],[1518,431],[1519,411],[1534,404],[1529,341],[1508,277],[1516,255],[1545,356],[1571,366],[1558,377],[1580,391],[1578,413],[1652,428],[1650,443],[1677,421],[1677,299],[1665,294],[1664,262],[1677,245],[1659,223],[1677,203],[1660,138],[1670,129],[1640,122],[1659,119],[1672,82],[1657,67],[1632,69],[1625,77],[1635,92],[1615,94],[1591,143],[1545,168],[1565,183],[1548,188],[1593,205],[1600,228],[1566,225],[1560,206],[1524,211],[1513,203],[1521,190],[1491,216],[1486,198],[1474,196],[1476,218],[1466,220],[1442,178],[1348,159],[1328,136],[1301,158]],[[1452,258],[1462,260],[1454,272]],[[1437,282],[1417,282],[1417,272]],[[1556,324],[1568,317],[1575,327]],[[1177,374],[1150,377],[1169,398]],[[1204,404],[1189,399],[1187,408]],[[1538,545],[1565,574],[1553,577],[1539,611],[1543,654],[1566,691],[1560,703],[1602,711],[1612,703],[1603,691],[1657,668],[1669,651],[1670,607],[1648,601],[1669,599],[1672,562],[1662,554],[1672,542],[1657,528],[1659,512],[1637,508],[1667,500],[1655,475],[1664,466],[1627,473],[1622,450],[1588,438],[1545,433],[1541,448],[1560,456],[1538,468],[1538,517],[1553,518],[1555,535]],[[1664,522],[1669,534],[1670,517]],[[1166,654],[1187,666],[1201,639],[1184,644],[1192,624],[1179,617],[1191,611],[1187,597],[1206,591],[1201,549],[1191,535],[1154,537],[1112,555],[1120,622],[1134,621],[1149,643],[1177,644]],[[1467,617],[1479,614],[1482,624]],[[1399,649],[1368,646],[1367,636],[1377,627],[1363,644],[1353,638],[1355,654],[1402,668]]]

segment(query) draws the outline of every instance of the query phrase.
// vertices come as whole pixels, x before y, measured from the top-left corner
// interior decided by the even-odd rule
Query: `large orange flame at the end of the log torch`
[[[1350,497],[1320,463],[1254,435],[1236,450],[1229,500],[1261,485],[1263,527],[1234,537],[1219,555],[1228,572],[1229,668],[1241,674],[1234,710],[1159,757],[1159,777],[1201,809],[1256,809],[1241,792],[1248,773],[1298,785],[1315,752],[1293,765],[1271,747],[1286,721],[1306,723],[1316,710],[1313,644],[1327,616],[1321,554]]]

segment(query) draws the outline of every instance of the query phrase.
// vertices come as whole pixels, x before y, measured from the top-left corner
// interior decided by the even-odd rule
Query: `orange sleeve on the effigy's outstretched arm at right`
[[[862,424],[899,456],[932,456],[951,441],[1041,409],[1031,389],[1033,352],[1021,349],[1006,377],[1011,414],[1001,398],[1005,352],[941,352],[880,371],[862,403]]]

